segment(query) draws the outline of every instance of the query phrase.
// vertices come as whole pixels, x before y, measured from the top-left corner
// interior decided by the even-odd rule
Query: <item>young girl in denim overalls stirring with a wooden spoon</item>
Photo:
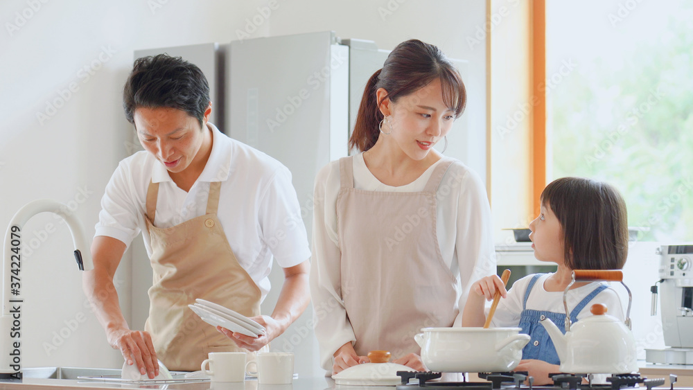
[[[484,298],[502,297],[491,326],[522,328],[532,336],[523,349],[516,371],[529,371],[535,384],[550,383],[549,373],[559,373],[554,344],[539,323],[551,319],[565,333],[563,290],[573,269],[621,269],[628,253],[626,204],[609,184],[578,177],[563,177],[541,193],[541,211],[529,224],[534,256],[556,263],[553,274],[534,274],[520,279],[506,292],[498,276],[487,276],[471,286],[462,326],[483,326]],[[603,303],[608,314],[623,319],[618,295],[606,283],[575,283],[568,291],[571,321],[590,316],[594,303]]]

